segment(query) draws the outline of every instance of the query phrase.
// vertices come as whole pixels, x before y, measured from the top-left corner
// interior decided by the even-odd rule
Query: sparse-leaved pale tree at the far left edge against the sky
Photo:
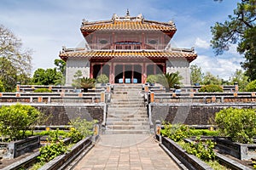
[[[16,82],[29,81],[31,61],[31,50],[24,49],[21,40],[0,25],[0,80],[6,91],[12,91]]]

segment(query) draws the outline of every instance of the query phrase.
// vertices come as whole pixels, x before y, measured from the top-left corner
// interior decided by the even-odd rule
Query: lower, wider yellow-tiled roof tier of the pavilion
[[[148,59],[170,59],[170,58],[185,58],[189,62],[196,59],[197,54],[189,52],[159,52],[159,51],[77,51],[77,52],[63,52],[60,54],[61,59],[67,59],[69,57],[78,58],[97,58],[97,59],[142,59],[147,57]]]

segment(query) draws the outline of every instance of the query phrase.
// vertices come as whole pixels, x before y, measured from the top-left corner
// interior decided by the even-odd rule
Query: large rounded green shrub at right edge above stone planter
[[[256,110],[228,108],[216,113],[219,133],[240,143],[252,143],[256,135]]]

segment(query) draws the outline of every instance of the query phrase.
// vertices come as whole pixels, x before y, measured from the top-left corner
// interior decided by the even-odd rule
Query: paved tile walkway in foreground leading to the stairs
[[[105,134],[74,168],[87,169],[179,169],[148,134]]]

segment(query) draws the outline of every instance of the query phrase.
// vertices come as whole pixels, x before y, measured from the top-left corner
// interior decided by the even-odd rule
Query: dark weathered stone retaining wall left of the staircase
[[[61,126],[68,125],[71,119],[77,117],[85,118],[87,121],[94,119],[98,120],[99,123],[103,121],[103,107],[94,106],[50,106],[50,105],[38,105],[34,106],[44,113],[47,117],[47,121],[41,125],[46,126]]]

